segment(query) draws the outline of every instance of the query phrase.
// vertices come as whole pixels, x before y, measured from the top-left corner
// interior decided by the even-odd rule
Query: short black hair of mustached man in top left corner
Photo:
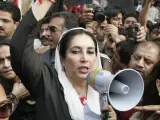
[[[21,19],[20,9],[11,2],[0,2],[0,11],[9,12],[12,15],[12,19],[14,22],[19,22]]]

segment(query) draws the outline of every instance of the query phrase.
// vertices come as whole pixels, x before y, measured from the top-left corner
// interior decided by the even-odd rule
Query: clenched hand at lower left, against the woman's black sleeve
[[[22,83],[14,83],[12,93],[20,100],[30,95]]]

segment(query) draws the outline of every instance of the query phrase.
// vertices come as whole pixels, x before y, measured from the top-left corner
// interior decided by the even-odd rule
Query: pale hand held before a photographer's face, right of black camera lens
[[[120,42],[119,34],[118,34],[118,28],[112,24],[106,25],[104,28],[104,34],[109,39],[112,39],[115,43]]]

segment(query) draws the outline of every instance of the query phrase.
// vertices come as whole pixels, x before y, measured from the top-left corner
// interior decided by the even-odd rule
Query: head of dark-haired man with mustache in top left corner
[[[0,39],[11,38],[20,21],[21,13],[10,2],[0,2]]]

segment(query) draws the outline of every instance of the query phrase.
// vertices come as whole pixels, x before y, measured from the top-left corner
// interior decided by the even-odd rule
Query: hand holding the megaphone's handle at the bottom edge
[[[102,112],[103,111],[108,111],[108,113],[101,114],[103,120],[104,120],[104,114],[108,114],[108,118],[106,118],[106,120],[117,120],[117,115],[111,105],[106,106],[106,108],[104,108]]]

